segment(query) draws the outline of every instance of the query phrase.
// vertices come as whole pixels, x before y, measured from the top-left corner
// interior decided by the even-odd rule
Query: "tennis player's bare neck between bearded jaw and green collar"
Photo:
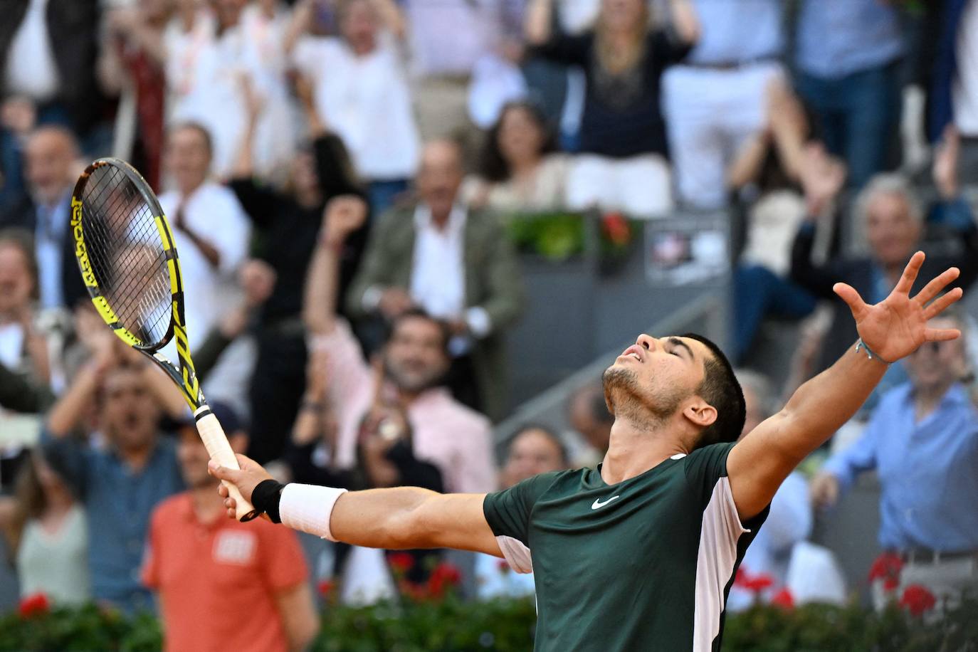
[[[675,436],[666,436],[670,422],[649,428],[624,418],[611,426],[608,452],[601,463],[601,479],[614,485],[645,473],[678,453],[687,453]]]

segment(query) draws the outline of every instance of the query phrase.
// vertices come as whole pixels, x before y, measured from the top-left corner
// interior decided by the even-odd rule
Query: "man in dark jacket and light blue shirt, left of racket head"
[[[28,196],[0,215],[0,226],[34,235],[40,308],[70,308],[88,296],[68,237],[78,145],[64,127],[39,127],[28,137],[24,154]]]

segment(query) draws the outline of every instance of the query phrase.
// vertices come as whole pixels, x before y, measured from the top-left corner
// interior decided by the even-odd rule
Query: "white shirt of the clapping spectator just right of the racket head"
[[[184,281],[187,329],[193,348],[203,341],[221,314],[230,308],[236,294],[235,271],[247,253],[250,224],[235,194],[215,183],[205,183],[184,201],[184,220],[200,239],[207,240],[220,254],[217,268],[211,267],[187,234],[176,228],[181,196],[176,191],[159,196],[163,213],[173,226],[173,239],[180,258]]]

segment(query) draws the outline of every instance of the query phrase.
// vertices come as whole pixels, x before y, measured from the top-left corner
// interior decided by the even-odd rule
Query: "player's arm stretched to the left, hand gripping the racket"
[[[214,477],[237,486],[245,500],[251,500],[255,487],[272,476],[248,457],[240,455],[238,462],[241,470],[218,466],[216,462],[210,462],[209,470]],[[228,514],[233,516],[234,499],[228,498],[227,489],[219,491]],[[285,492],[289,492],[289,486],[284,495]],[[303,524],[301,529],[319,536],[325,532],[333,541],[366,547],[453,547],[501,557],[503,553],[482,511],[483,500],[484,494],[436,494],[417,487],[348,492],[335,500],[332,513],[325,510],[324,520],[328,522]],[[285,512],[283,507],[283,522],[290,524],[293,519]]]

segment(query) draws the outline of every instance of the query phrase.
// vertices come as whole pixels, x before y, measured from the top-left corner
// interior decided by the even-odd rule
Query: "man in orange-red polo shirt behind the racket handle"
[[[244,451],[247,435],[237,416],[220,404],[211,410],[232,448]],[[193,421],[178,437],[189,490],[156,507],[143,568],[143,582],[159,600],[165,649],[304,649],[319,623],[295,533],[264,519],[224,518]]]

